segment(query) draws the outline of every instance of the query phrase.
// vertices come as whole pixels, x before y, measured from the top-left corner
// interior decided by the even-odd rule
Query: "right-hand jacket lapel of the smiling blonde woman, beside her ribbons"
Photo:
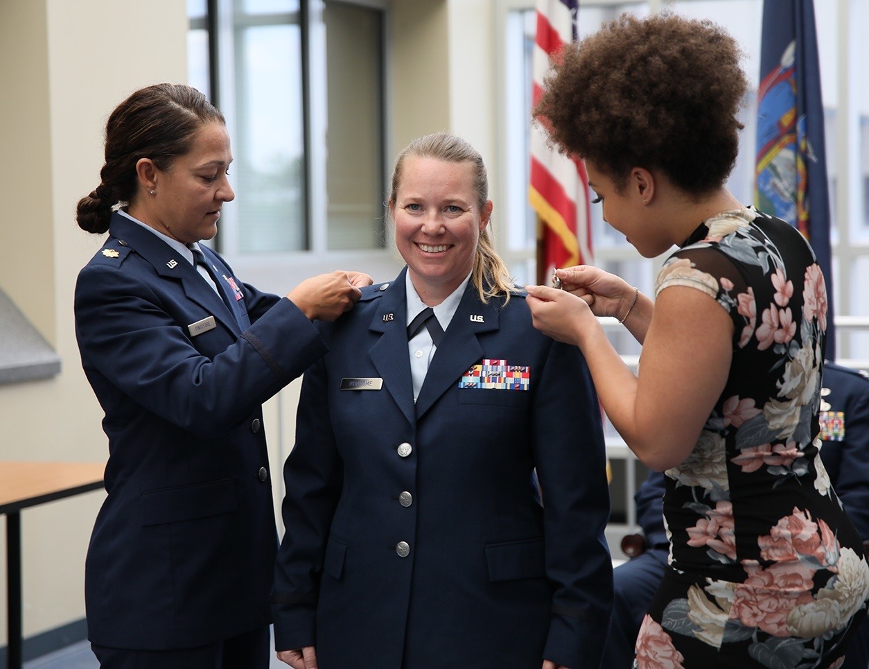
[[[442,394],[459,383],[461,375],[467,372],[468,368],[481,360],[483,348],[477,336],[498,329],[500,303],[500,300],[493,299],[488,304],[483,304],[474,282],[468,282],[468,288],[461,298],[459,307],[455,310],[441,345],[434,351],[426,380],[422,383],[420,396],[416,399],[417,420],[426,414]],[[407,350],[407,343],[405,350]]]

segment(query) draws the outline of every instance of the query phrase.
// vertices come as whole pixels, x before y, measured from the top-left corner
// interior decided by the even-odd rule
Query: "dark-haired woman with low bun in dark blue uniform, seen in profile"
[[[352,308],[370,278],[335,272],[282,298],[199,246],[235,193],[223,117],[196,89],[129,96],[105,160],[77,210],[109,232],[76,283],[109,437],[88,638],[111,669],[265,669],[277,538],[261,405],[326,351],[311,321]]]

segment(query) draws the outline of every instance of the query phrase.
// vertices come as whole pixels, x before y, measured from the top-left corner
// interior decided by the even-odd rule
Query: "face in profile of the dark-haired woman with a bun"
[[[185,244],[211,239],[217,234],[223,202],[235,199],[227,179],[230,162],[226,126],[202,125],[189,152],[176,157],[169,169],[157,169],[146,158],[139,161],[144,190],[131,203],[129,214]]]

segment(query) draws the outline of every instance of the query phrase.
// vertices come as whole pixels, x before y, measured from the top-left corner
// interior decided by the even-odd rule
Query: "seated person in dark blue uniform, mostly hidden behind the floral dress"
[[[820,457],[830,482],[864,542],[869,541],[869,374],[826,362],[820,407]],[[603,666],[634,665],[634,641],[667,566],[667,533],[661,512],[664,474],[650,472],[634,496],[643,533],[628,535],[623,549],[632,557],[613,573],[613,625]],[[638,544],[642,544],[638,549]],[[869,619],[846,652],[841,669],[869,666]]]

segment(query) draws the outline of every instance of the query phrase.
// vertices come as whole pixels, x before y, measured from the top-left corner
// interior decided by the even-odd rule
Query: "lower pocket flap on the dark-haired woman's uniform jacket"
[[[143,526],[232,513],[238,508],[232,479],[147,490],[140,504]]]

